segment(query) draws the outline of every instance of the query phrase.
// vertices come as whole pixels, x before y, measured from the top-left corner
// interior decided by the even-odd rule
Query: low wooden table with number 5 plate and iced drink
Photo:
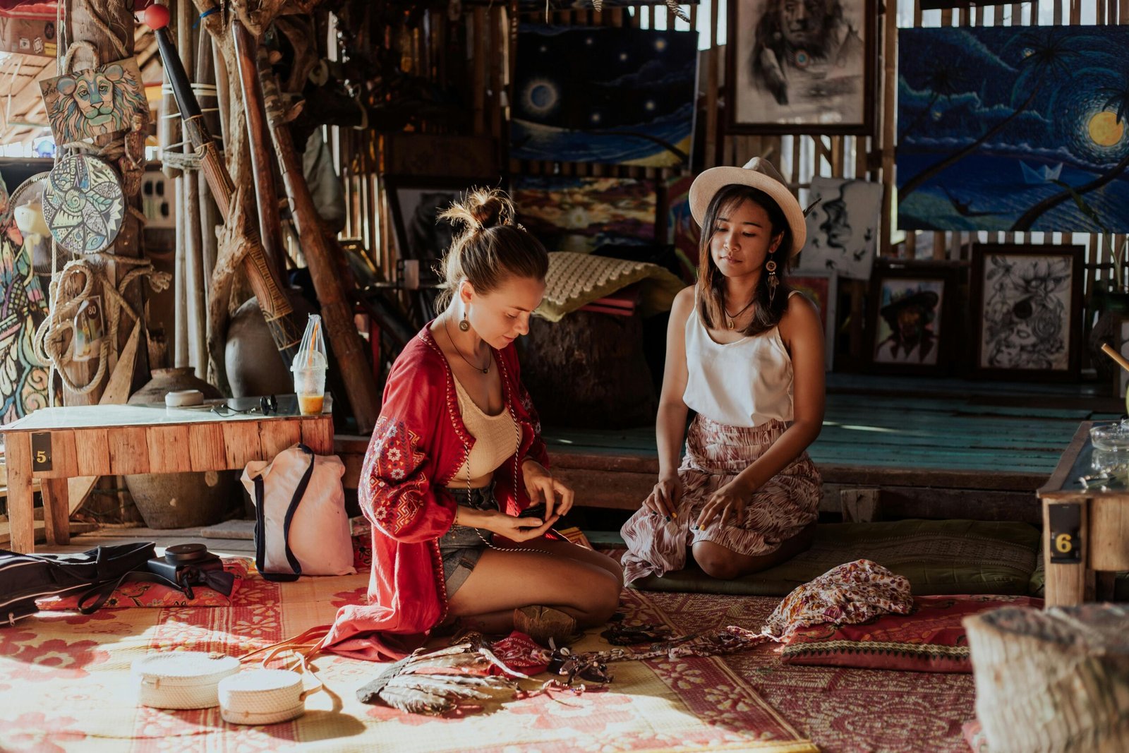
[[[75,405],[41,408],[7,426],[8,519],[11,550],[35,550],[33,480],[41,481],[47,543],[70,541],[67,480],[72,476],[228,471],[270,459],[297,441],[333,453],[330,400],[321,415],[300,415],[281,395],[279,411],[257,412],[257,399],[209,401],[200,408]],[[227,406],[227,408],[225,408]],[[240,413],[228,409],[254,413]]]

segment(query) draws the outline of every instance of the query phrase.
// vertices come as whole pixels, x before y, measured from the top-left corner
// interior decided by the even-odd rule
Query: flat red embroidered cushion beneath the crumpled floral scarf
[[[856,624],[821,624],[793,633],[785,664],[821,664],[910,672],[972,672],[961,620],[1000,606],[1041,607],[1027,596],[917,596],[908,614]]]

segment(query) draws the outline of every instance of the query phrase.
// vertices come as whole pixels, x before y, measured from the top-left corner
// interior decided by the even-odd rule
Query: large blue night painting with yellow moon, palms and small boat
[[[899,30],[899,226],[1129,231],[1129,27]]]

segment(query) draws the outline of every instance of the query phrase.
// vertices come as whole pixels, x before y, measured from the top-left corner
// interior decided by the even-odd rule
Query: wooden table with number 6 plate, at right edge
[[[1129,570],[1129,453],[1103,453],[1083,421],[1058,467],[1039,490],[1043,504],[1047,606],[1112,595],[1113,573]]]

